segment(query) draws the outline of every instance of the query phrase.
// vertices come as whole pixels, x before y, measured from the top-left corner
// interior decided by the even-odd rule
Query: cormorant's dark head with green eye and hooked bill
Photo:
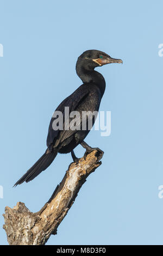
[[[94,69],[97,66],[103,66],[110,63],[123,63],[121,59],[111,58],[105,52],[98,50],[87,50],[83,52],[79,58],[78,62],[81,62],[85,68]]]

